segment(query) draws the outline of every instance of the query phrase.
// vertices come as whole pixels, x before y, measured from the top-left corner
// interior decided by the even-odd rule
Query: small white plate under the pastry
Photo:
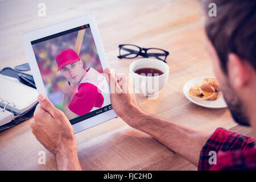
[[[188,82],[185,83],[183,86],[183,93],[185,97],[194,104],[203,106],[203,107],[208,107],[208,108],[213,108],[213,109],[220,109],[220,108],[225,108],[227,107],[226,102],[223,98],[223,94],[215,100],[215,101],[204,101],[204,100],[197,100],[196,98],[193,98],[188,94],[188,90],[191,88],[191,86],[195,85],[197,82],[200,82],[204,78],[214,78],[212,76],[205,76],[205,77],[199,77],[199,78],[194,78],[192,80],[189,80]]]

